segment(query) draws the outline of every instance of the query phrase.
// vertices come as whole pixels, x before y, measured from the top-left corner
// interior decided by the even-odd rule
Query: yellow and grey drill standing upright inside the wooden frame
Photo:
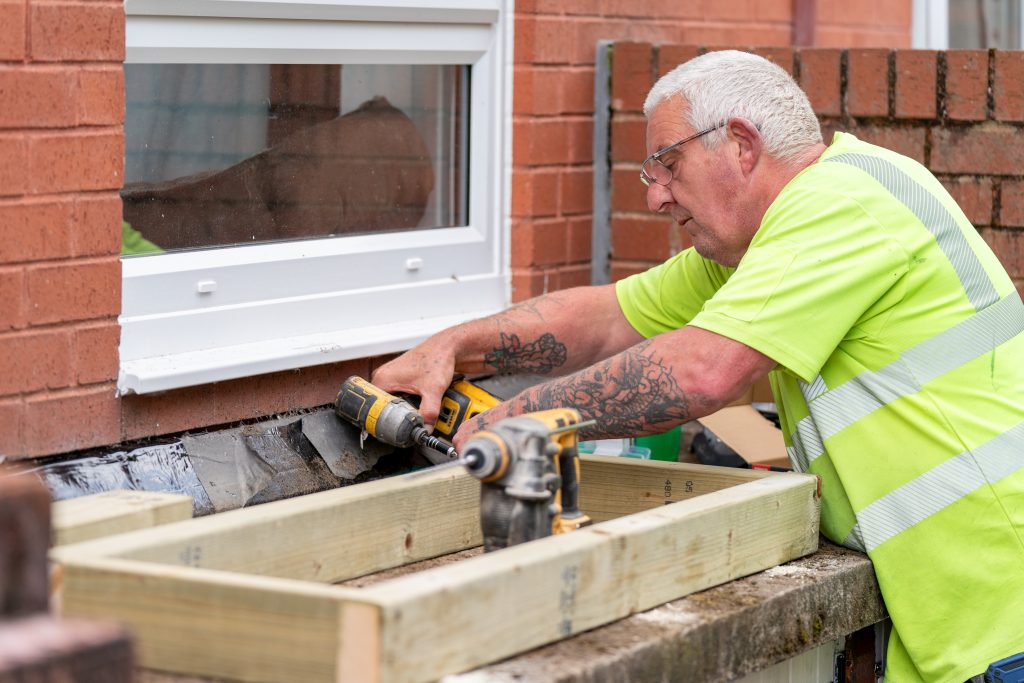
[[[580,510],[580,461],[572,409],[527,413],[477,432],[462,462],[480,486],[483,550],[563,533],[590,523]]]

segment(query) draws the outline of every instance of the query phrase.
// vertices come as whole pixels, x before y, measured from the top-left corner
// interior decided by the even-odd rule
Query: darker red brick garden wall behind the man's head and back
[[[651,79],[707,48],[617,43],[612,55],[611,274],[689,246],[650,214],[638,174]],[[882,48],[753,49],[794,74],[821,120],[935,173],[1024,292],[1024,52]]]

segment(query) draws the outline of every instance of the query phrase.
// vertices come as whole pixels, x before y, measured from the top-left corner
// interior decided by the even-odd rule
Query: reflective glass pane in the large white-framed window
[[[468,67],[127,63],[125,255],[466,225]]]

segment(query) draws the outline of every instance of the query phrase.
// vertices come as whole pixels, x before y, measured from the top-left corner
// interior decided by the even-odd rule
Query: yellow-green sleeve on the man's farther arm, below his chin
[[[731,271],[687,249],[649,270],[618,281],[615,296],[630,325],[650,338],[693,319]]]

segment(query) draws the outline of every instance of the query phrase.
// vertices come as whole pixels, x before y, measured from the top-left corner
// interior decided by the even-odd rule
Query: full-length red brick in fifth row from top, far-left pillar
[[[121,310],[121,261],[117,258],[35,266],[28,271],[29,322],[88,321]]]

